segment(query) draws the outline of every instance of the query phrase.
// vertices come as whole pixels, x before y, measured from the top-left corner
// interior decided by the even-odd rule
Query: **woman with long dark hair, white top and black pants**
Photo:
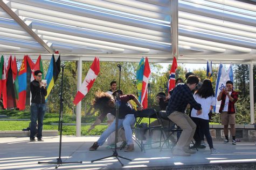
[[[191,119],[196,123],[197,128],[194,135],[195,145],[200,146],[200,132],[205,135],[207,143],[210,146],[211,153],[217,153],[213,147],[212,137],[209,130],[209,112],[215,106],[215,92],[209,79],[205,79],[202,86],[194,94],[195,100],[201,104],[202,114],[198,114],[196,109],[192,109]],[[193,147],[193,146],[192,146]],[[194,146],[195,147],[195,146]]]

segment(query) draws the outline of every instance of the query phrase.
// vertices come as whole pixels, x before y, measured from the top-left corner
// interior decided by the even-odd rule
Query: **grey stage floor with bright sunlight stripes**
[[[115,158],[91,163],[91,160],[112,155],[112,150],[100,146],[97,151],[88,151],[89,146],[98,137],[63,137],[61,158],[63,162],[82,161],[82,164],[63,164],[58,169],[122,169]],[[44,142],[29,142],[28,137],[0,138],[0,169],[54,169],[56,165],[38,164],[38,161],[56,161],[59,156],[59,137],[44,137]],[[199,150],[190,157],[173,157],[168,149],[126,153],[118,150],[120,156],[132,159],[120,159],[123,168],[135,167],[175,167],[181,165],[197,166],[207,164],[215,166],[225,162],[256,162],[254,143],[238,142],[237,145],[213,143],[217,154],[210,154],[210,149]]]

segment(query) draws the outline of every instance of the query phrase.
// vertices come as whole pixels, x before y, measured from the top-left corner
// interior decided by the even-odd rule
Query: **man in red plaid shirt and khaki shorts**
[[[224,135],[226,138],[224,143],[229,143],[230,124],[232,144],[236,145],[236,128],[234,127],[234,124],[236,124],[236,108],[234,104],[238,100],[238,92],[235,92],[233,90],[233,82],[231,80],[226,82],[226,88],[223,88],[222,91],[220,91],[217,100],[222,101],[220,104],[219,113],[222,120],[222,124],[224,125]]]

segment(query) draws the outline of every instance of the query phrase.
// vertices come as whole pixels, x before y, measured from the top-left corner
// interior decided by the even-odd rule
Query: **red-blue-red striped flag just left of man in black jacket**
[[[34,68],[34,63],[28,55],[25,55],[18,73],[19,110],[24,110],[25,106],[30,105],[30,82],[32,76],[31,68]]]

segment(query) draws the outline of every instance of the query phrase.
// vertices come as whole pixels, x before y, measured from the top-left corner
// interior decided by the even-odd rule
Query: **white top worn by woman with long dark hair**
[[[197,110],[193,108],[191,112],[191,117],[198,117],[200,119],[209,120],[208,113],[210,112],[210,107],[215,106],[215,102],[216,102],[215,97],[211,96],[205,99],[205,98],[199,97],[198,94],[194,94],[194,98],[198,102],[198,104],[201,104],[203,112],[202,114],[197,115]]]

